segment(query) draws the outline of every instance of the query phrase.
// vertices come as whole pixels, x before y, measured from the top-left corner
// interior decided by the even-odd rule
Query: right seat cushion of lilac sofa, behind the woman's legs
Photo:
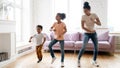
[[[75,47],[81,48],[82,44],[83,44],[83,41],[77,41],[77,42],[75,42]],[[99,41],[98,46],[99,46],[99,48],[110,48],[110,44],[108,41]],[[92,41],[89,41],[86,48],[93,48],[93,47],[94,46],[93,46]]]

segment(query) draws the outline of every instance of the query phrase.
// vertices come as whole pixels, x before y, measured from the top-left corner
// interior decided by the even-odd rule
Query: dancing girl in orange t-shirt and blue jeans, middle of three
[[[50,54],[52,56],[52,62],[51,64],[55,61],[56,57],[54,55],[54,52],[52,50],[52,46],[59,42],[60,43],[60,48],[61,48],[61,67],[64,67],[64,34],[67,32],[66,25],[63,23],[61,20],[65,19],[65,14],[64,13],[57,13],[56,15],[56,20],[51,27],[51,31],[54,31],[54,40],[52,40],[49,44],[49,50]]]

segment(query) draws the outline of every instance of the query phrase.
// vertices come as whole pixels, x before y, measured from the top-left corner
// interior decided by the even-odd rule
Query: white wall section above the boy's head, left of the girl
[[[52,4],[51,0],[34,0],[33,1],[33,29],[35,33],[36,25],[44,26],[43,32],[49,32],[51,26]],[[44,24],[46,23],[46,24]]]

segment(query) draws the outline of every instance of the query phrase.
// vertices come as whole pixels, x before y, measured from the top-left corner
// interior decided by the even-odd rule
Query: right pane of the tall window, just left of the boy
[[[32,6],[33,0],[23,0],[22,2],[22,41],[28,42],[31,35],[31,30],[33,29],[33,15]]]

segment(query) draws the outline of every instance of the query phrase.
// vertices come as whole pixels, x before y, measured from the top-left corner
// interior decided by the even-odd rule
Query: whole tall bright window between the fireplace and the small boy
[[[28,42],[30,37],[30,0],[15,0],[16,41]]]

